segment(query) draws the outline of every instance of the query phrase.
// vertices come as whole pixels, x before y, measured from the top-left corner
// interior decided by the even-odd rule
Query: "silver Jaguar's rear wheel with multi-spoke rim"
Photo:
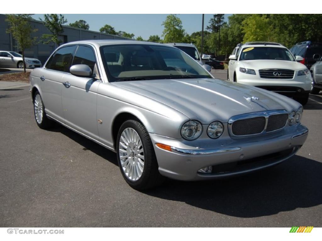
[[[43,105],[43,99],[39,91],[36,91],[33,97],[33,113],[36,123],[41,129],[48,129],[52,126],[52,121],[46,116],[45,106]]]

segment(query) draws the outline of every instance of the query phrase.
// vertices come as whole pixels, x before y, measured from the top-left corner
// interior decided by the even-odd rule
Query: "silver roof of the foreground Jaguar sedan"
[[[81,40],[81,41],[74,41],[62,44],[61,46],[73,45],[73,44],[92,44],[96,47],[101,47],[105,45],[114,45],[114,44],[149,44],[149,45],[161,45],[164,44],[153,43],[153,42],[146,42],[146,41],[136,41],[136,40]],[[60,47],[61,47],[60,46]]]

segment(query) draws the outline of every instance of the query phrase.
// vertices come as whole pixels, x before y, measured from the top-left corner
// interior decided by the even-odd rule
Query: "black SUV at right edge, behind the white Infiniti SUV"
[[[292,48],[289,49],[291,53],[295,56],[301,56],[303,60],[299,61],[304,64],[308,69],[317,62],[313,59],[314,54],[319,54],[322,56],[322,43],[312,43],[311,41],[305,41],[295,44]]]

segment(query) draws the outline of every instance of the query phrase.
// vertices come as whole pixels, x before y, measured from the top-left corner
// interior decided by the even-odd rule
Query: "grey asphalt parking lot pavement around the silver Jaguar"
[[[113,152],[58,124],[39,129],[28,87],[0,90],[0,227],[322,227],[322,92],[304,109],[308,139],[282,164],[138,192]]]

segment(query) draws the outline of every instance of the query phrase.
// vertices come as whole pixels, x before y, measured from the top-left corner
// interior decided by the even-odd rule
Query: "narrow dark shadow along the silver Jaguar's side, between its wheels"
[[[53,128],[48,129],[48,131],[54,131],[54,132],[60,132],[63,135],[67,136],[68,138],[71,138],[73,141],[77,142],[81,146],[83,146],[84,151],[91,151],[100,157],[104,158],[105,160],[109,161],[110,163],[118,166],[118,160],[116,157],[116,154],[107,148],[97,144],[96,142],[83,137],[82,135],[58,124],[54,123]]]

